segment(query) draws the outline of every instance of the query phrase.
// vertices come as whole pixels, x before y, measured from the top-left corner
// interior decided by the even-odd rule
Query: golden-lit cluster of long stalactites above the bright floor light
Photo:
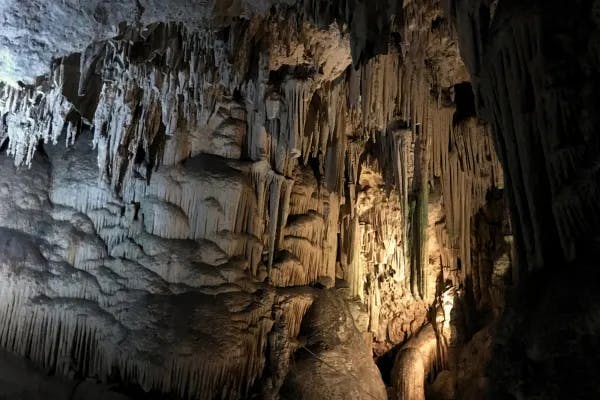
[[[354,86],[357,76],[360,86]],[[489,128],[475,118],[455,118],[456,109],[442,102],[441,93],[431,95],[429,79],[414,65],[388,55],[371,60],[348,81],[349,104],[354,104],[350,115],[367,128],[370,144],[365,146],[361,142],[365,136],[359,136],[347,146],[347,196],[359,207],[361,196],[398,203],[393,214],[375,203],[363,215],[352,208],[341,216],[342,272],[352,293],[369,305],[373,332],[378,323],[387,322],[376,277],[388,268],[395,271],[397,293],[408,290],[428,302],[438,295],[433,281],[439,273],[456,284],[472,274],[471,219],[486,204],[488,191],[503,186]],[[369,157],[365,158],[365,150]],[[373,196],[370,183],[359,193],[359,171],[365,168],[381,174],[381,195]],[[435,192],[431,199],[430,191]],[[438,201],[441,218],[432,220],[428,209]],[[389,221],[398,221],[393,234],[386,234]],[[436,243],[429,243],[428,229],[435,233]],[[381,257],[388,242],[395,242],[389,253],[393,256]],[[438,251],[435,265],[430,265],[428,257]],[[434,274],[428,271],[432,267],[438,269]],[[456,272],[461,267],[462,275]],[[385,334],[381,337],[385,339]]]

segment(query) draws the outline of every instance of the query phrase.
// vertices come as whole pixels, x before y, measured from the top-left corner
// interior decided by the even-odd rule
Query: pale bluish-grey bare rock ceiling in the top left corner
[[[119,33],[121,24],[179,21],[189,26],[264,14],[274,0],[4,0],[0,79],[32,83],[54,59],[83,51]],[[285,1],[282,1],[285,3]]]

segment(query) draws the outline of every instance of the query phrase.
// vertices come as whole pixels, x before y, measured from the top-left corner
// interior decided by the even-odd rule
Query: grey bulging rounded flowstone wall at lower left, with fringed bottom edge
[[[85,157],[91,148],[81,143],[53,164],[40,156],[31,169],[0,178],[2,346],[59,374],[240,396],[263,368],[274,294],[251,280],[244,291],[235,285],[243,270],[217,268],[211,243],[159,241],[138,226],[110,246],[119,231],[135,230],[120,222],[134,220],[133,207],[88,203],[86,189],[100,189]],[[14,168],[2,162],[3,171]],[[70,194],[62,203],[59,189]],[[81,210],[69,198],[83,200]],[[214,346],[235,357],[223,359]]]

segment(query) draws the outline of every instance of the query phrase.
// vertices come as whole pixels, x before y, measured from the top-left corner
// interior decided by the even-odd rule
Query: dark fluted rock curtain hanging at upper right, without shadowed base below
[[[597,215],[595,2],[567,13],[554,2],[450,7],[507,167],[523,272],[586,256]]]

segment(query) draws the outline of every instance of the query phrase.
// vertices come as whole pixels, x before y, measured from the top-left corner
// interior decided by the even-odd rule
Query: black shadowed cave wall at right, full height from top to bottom
[[[490,398],[596,398],[598,2],[446,6],[505,167],[518,250]]]

